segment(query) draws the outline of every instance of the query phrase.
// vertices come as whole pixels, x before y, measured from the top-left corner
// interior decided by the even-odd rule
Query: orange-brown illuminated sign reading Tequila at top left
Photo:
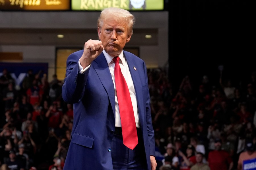
[[[69,10],[69,0],[0,0],[0,10]]]

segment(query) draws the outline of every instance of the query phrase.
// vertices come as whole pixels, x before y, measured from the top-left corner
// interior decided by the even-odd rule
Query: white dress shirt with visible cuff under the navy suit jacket
[[[106,53],[105,50],[103,50],[103,53],[104,53],[104,56],[107,60],[108,67],[109,67],[110,74],[111,74],[113,84],[114,84],[114,88],[115,88],[115,74],[114,74],[115,62],[113,61],[114,57],[111,57],[110,55],[108,55],[108,53]],[[136,92],[135,92],[135,88],[134,88],[134,85],[133,85],[133,80],[131,78],[131,73],[129,71],[127,61],[126,61],[125,57],[123,56],[123,51],[120,53],[119,58],[120,58],[119,66],[121,68],[121,72],[122,72],[122,74],[125,78],[125,81],[127,83],[127,86],[128,86],[129,92],[130,92],[130,96],[131,96],[131,102],[132,102],[132,105],[133,105],[133,112],[134,112],[136,127],[140,128]],[[80,73],[84,73],[90,67],[90,65],[89,65],[88,67],[83,69],[81,64],[80,64],[80,61],[78,63],[79,63]],[[116,127],[121,127],[121,119],[120,119],[120,113],[119,113],[119,106],[118,106],[116,88],[115,88],[115,126]]]

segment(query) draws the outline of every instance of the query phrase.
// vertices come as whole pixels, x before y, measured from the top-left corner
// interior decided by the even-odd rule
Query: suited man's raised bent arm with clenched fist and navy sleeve
[[[66,78],[62,86],[62,97],[67,103],[79,102],[84,95],[90,64],[103,51],[101,41],[88,40],[84,50],[72,53],[67,59]]]

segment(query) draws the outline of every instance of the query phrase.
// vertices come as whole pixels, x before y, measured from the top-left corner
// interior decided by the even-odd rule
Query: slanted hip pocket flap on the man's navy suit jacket
[[[85,147],[92,148],[94,138],[74,133],[71,142]]]

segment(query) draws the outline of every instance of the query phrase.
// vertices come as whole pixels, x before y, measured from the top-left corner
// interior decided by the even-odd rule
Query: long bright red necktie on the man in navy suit
[[[138,144],[138,137],[131,96],[119,66],[119,57],[114,57],[113,61],[115,62],[115,87],[121,117],[123,144],[134,149]]]

